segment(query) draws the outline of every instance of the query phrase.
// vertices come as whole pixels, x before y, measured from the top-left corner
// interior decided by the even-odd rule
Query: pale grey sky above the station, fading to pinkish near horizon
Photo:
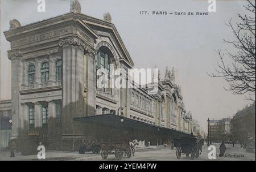
[[[46,12],[38,12],[36,0],[1,0],[1,97],[11,98],[11,63],[7,58],[10,43],[3,31],[9,21],[17,19],[22,25],[52,18],[69,12],[68,0],[46,0]],[[217,1],[216,12],[207,16],[140,15],[139,11],[207,12],[209,3],[203,0],[80,0],[82,13],[103,19],[112,15],[119,35],[137,68],[157,66],[164,76],[165,68],[176,70],[177,83],[185,101],[185,109],[207,131],[207,119],[232,117],[250,102],[245,96],[225,91],[227,83],[211,78],[218,55],[214,50],[229,49],[223,39],[233,40],[225,25],[230,18],[244,12],[245,1]]]

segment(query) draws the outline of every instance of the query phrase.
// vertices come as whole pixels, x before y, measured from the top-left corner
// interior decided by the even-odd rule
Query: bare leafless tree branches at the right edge
[[[222,77],[229,83],[228,91],[234,94],[248,93],[249,100],[255,103],[255,1],[247,0],[245,14],[238,14],[240,23],[232,24],[229,20],[228,26],[232,29],[235,37],[234,41],[226,41],[225,43],[233,46],[235,52],[230,53],[226,50],[222,53],[216,51],[220,58],[218,62],[217,74],[210,74],[212,77]],[[232,64],[228,65],[225,57],[232,60]]]

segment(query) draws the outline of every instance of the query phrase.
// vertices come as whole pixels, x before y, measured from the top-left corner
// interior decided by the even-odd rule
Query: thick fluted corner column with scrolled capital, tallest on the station
[[[71,139],[73,118],[84,116],[85,45],[77,37],[64,38],[59,45],[63,56],[63,138]]]

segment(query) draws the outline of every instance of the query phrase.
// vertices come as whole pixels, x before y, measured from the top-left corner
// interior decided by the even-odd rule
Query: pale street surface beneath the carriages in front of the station
[[[214,144],[216,146],[216,153],[218,155],[219,153],[219,144]],[[240,145],[235,145],[235,147],[232,147],[232,144],[226,144],[226,152],[224,157],[218,157],[216,160],[210,160],[210,161],[233,161],[233,160],[254,160],[255,161],[255,153],[247,153],[245,149],[240,148]],[[203,146],[203,153],[201,156],[193,161],[200,161],[200,160],[209,160],[208,159],[208,150],[207,145],[204,144]],[[1,151],[0,152],[0,160],[38,160],[36,155],[29,155],[29,156],[23,156],[20,153],[15,153],[14,158],[10,158],[10,152],[9,151]],[[191,156],[191,155],[189,155]],[[85,154],[79,154],[78,152],[46,152],[46,160],[53,160],[53,161],[59,161],[59,160],[75,160],[75,161],[100,161],[103,160],[101,157],[101,154],[93,154],[90,152],[87,152]],[[113,154],[110,154],[107,158],[107,160],[116,160],[115,156]],[[170,148],[163,148],[163,147],[137,147],[135,156],[131,157],[130,159],[127,157],[122,158],[123,161],[191,161],[191,157],[187,158],[185,154],[181,154],[181,158],[177,159],[176,157],[176,148],[174,150],[171,150]],[[105,161],[105,160],[104,160]]]

